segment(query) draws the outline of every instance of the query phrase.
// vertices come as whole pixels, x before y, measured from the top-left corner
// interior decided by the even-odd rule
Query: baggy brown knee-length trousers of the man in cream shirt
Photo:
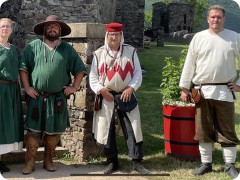
[[[196,104],[195,140],[218,142],[222,147],[240,144],[235,131],[234,103],[204,99]]]

